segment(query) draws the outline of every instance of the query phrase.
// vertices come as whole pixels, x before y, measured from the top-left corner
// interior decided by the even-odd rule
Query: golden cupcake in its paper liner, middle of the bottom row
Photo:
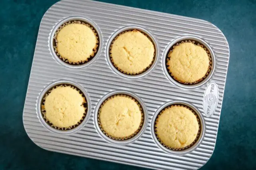
[[[124,140],[134,136],[142,126],[143,114],[138,102],[127,95],[114,95],[101,105],[98,123],[110,138]]]

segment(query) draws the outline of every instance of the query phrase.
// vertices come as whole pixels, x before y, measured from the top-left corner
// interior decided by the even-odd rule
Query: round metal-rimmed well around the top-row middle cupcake
[[[139,31],[142,34],[144,34],[153,43],[154,50],[155,50],[154,58],[153,58],[152,62],[150,63],[150,65],[147,68],[144,69],[144,71],[141,71],[140,73],[126,73],[126,72],[122,71],[121,69],[119,69],[114,64],[112,57],[111,57],[111,52],[110,52],[112,49],[112,44],[114,43],[116,38],[118,38],[118,36],[124,34],[125,32],[131,32],[133,30]],[[142,77],[142,76],[148,74],[150,71],[152,71],[157,64],[158,57],[159,57],[158,53],[159,53],[159,47],[158,47],[158,43],[157,43],[156,39],[154,38],[154,36],[150,32],[148,32],[148,30],[138,27],[138,26],[126,26],[126,27],[120,28],[110,37],[107,47],[106,47],[106,55],[107,55],[108,64],[110,65],[112,70],[115,73],[117,73],[118,75],[121,75],[122,77],[125,77],[125,78],[130,78],[130,79]]]

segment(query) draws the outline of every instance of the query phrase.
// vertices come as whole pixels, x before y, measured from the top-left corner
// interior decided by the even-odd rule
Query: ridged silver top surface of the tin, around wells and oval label
[[[80,69],[70,69],[58,63],[49,49],[51,30],[69,16],[89,18],[99,27],[102,51],[92,64]],[[156,38],[159,59],[156,67],[144,77],[127,79],[114,73],[106,59],[106,44],[114,32],[124,26],[140,26]],[[162,68],[162,55],[175,38],[192,35],[207,42],[216,57],[215,70],[210,80],[194,89],[184,89],[171,83]],[[108,160],[154,169],[198,169],[214,150],[220,111],[228,69],[229,47],[222,32],[204,20],[187,18],[149,10],[118,6],[94,1],[62,0],[54,4],[43,16],[28,83],[23,111],[23,122],[28,136],[38,146],[55,152]],[[85,126],[69,135],[55,134],[46,129],[36,113],[36,101],[46,85],[57,80],[76,82],[87,91],[91,112]],[[203,96],[207,85],[215,82],[219,88],[216,111],[211,117],[203,113]],[[116,90],[131,91],[145,103],[148,111],[146,130],[138,140],[117,145],[104,140],[94,125],[94,109],[107,93]],[[203,115],[205,133],[201,144],[182,156],[168,154],[157,146],[151,133],[154,113],[164,103],[184,101],[194,105]]]

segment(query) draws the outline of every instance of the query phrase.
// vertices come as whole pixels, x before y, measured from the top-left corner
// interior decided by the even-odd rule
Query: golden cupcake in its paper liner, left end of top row
[[[94,56],[98,47],[95,30],[83,22],[73,21],[61,26],[54,36],[55,51],[64,61],[80,64]]]

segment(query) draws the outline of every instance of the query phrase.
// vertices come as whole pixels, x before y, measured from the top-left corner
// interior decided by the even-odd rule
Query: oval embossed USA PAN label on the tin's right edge
[[[210,83],[204,92],[204,114],[207,117],[214,113],[219,99],[219,90],[216,83]]]

